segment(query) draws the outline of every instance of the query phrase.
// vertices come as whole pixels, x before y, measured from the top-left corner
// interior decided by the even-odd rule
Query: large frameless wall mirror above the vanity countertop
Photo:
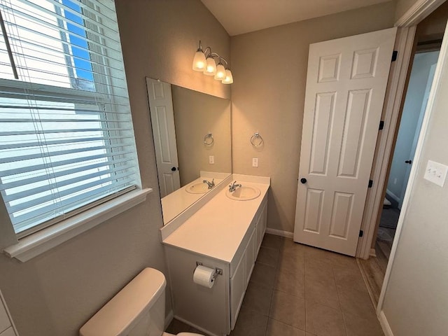
[[[230,100],[146,78],[163,223],[232,173]]]

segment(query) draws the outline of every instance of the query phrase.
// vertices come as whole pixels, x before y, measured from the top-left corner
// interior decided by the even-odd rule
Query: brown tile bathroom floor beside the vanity
[[[230,336],[339,335],[384,335],[355,258],[265,235]]]

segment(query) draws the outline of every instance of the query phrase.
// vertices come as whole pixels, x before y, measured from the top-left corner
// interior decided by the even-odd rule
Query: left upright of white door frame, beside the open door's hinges
[[[415,31],[415,26],[398,28],[395,41],[395,46],[398,50],[398,59],[392,65],[391,75],[388,80],[388,90],[384,102],[385,127],[380,131],[379,149],[377,158],[374,160],[376,163],[372,167],[372,180],[374,183],[367,193],[365,202],[363,223],[361,225],[361,230],[364,230],[365,235],[358,241],[358,248],[356,250],[356,256],[358,258],[369,258],[374,230],[377,224],[378,209],[384,202],[383,188],[386,182],[389,158],[392,154],[395,127],[397,126],[401,100],[405,90],[407,69],[409,68],[409,60],[412,55]]]

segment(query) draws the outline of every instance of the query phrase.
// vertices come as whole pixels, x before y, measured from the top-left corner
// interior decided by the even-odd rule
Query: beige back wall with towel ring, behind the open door
[[[309,44],[392,27],[394,9],[381,3],[232,37],[233,172],[271,176],[269,228],[294,228]],[[251,146],[254,132],[263,148]]]

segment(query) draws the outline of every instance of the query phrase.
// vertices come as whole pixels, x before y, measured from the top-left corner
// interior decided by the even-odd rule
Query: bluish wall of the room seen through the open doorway
[[[437,63],[438,51],[423,52],[416,54],[414,63],[412,64],[412,72],[409,78],[405,105],[403,106],[402,117],[400,121],[400,130],[398,131],[395,151],[391,165],[391,173],[389,174],[387,191],[392,193],[393,197],[397,197],[396,201],[400,202],[402,190],[406,187],[406,171],[409,165],[405,160],[413,159],[411,157],[412,143],[414,136],[420,132],[417,129],[419,117],[422,112],[423,96],[428,83],[430,68]]]

